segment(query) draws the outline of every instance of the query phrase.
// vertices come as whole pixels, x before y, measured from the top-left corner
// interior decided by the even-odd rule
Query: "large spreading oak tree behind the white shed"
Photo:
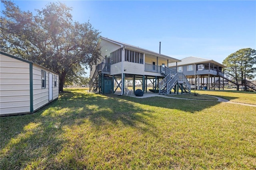
[[[50,2],[42,10],[21,11],[12,1],[1,16],[1,51],[23,57],[59,73],[60,91],[66,79],[84,72],[100,57],[99,32],[89,22],[72,20],[72,8]]]

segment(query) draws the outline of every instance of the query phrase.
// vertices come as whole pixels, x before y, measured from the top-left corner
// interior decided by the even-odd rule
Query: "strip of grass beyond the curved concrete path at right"
[[[233,91],[233,90],[226,90],[226,91],[196,90],[195,92],[202,95],[212,95],[212,96],[221,97],[232,102],[256,105],[256,92]],[[191,93],[194,93],[194,91],[191,91]]]

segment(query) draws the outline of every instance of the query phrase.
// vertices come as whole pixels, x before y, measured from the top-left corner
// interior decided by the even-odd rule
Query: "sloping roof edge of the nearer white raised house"
[[[121,47],[128,47],[130,49],[134,49],[136,51],[141,51],[142,53],[146,53],[146,54],[149,54],[149,55],[156,55],[158,57],[163,57],[163,58],[166,58],[169,60],[169,62],[179,62],[181,61],[180,59],[176,59],[176,58],[172,58],[168,55],[163,55],[163,54],[160,54],[160,53],[156,53],[154,51],[150,51],[148,49],[144,49],[144,48],[140,48],[140,47],[136,47],[134,45],[130,45],[130,44],[127,44],[127,43],[122,43],[122,42],[118,42],[116,40],[112,40],[112,39],[109,39],[109,38],[104,38],[102,36],[100,36],[100,39],[102,40],[106,40],[108,42],[112,42],[112,43],[115,43],[117,45],[121,45]]]

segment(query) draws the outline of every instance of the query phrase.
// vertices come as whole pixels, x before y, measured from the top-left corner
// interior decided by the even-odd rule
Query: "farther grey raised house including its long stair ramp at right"
[[[177,69],[178,73],[184,73],[194,89],[224,89],[229,82],[237,86],[246,86],[247,89],[256,91],[256,85],[249,80],[236,82],[225,71],[225,65],[212,59],[200,57],[186,57],[177,64],[170,63],[172,69]]]

